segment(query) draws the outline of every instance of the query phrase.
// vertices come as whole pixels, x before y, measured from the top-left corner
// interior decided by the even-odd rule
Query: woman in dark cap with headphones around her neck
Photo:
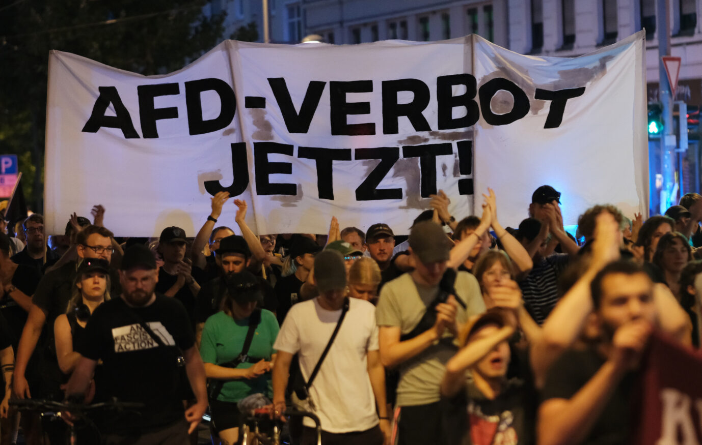
[[[63,374],[70,375],[81,357],[74,345],[83,340],[93,310],[110,299],[109,270],[110,264],[105,259],[84,259],[73,283],[68,310],[54,322],[56,358]]]

